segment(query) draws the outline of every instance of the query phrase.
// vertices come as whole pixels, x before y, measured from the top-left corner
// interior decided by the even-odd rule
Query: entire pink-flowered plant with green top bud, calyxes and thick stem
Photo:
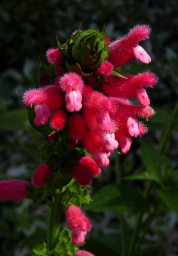
[[[50,208],[46,243],[34,243],[31,256],[93,256],[79,249],[91,230],[80,210],[89,204],[88,190],[101,168],[109,165],[116,150],[126,154],[132,138],[148,132],[138,117],[148,120],[155,113],[145,88],[157,83],[150,71],[121,74],[116,68],[132,58],[150,63],[139,45],[148,39],[150,27],[136,26],[114,42],[98,30],[80,29],[65,44],[46,52],[49,68],[39,60],[40,87],[27,90],[22,102],[31,126],[42,133],[42,163],[31,182],[0,182],[1,199],[33,199]],[[135,98],[138,104],[132,104]],[[69,229],[60,232],[61,212]]]

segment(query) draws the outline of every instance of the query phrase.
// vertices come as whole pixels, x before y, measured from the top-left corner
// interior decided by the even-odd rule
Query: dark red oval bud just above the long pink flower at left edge
[[[37,188],[44,186],[51,172],[52,172],[52,168],[50,168],[48,164],[46,163],[40,164],[40,166],[36,169],[36,171],[34,171],[34,174],[31,180],[32,184]]]

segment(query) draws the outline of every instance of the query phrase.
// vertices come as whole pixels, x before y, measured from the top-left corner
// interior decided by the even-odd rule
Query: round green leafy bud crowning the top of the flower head
[[[61,46],[65,54],[66,70],[75,71],[84,78],[91,76],[108,58],[109,45],[105,38],[105,27],[101,33],[99,30],[82,32],[79,29]]]

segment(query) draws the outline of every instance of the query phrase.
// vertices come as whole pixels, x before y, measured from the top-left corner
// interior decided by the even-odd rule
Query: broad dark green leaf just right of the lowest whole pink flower
[[[148,211],[148,202],[134,186],[112,184],[98,191],[90,205],[82,210],[98,213],[124,213]]]

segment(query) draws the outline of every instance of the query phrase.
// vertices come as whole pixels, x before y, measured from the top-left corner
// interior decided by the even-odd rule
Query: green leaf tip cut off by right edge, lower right
[[[166,203],[166,205],[176,213],[178,213],[178,189],[171,189],[170,191],[163,191],[157,189],[161,199]]]

